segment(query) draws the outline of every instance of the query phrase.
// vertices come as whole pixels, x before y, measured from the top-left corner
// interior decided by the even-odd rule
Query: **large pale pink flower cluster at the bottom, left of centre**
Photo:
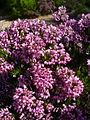
[[[16,88],[13,96],[13,106],[19,114],[20,120],[40,120],[44,116],[43,101],[37,100],[34,92],[24,88]]]

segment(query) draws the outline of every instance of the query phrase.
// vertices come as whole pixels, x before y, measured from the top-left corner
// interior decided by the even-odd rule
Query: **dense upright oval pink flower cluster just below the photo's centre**
[[[52,71],[49,68],[36,68],[34,71],[34,78],[32,80],[36,90],[36,94],[47,99],[50,97],[49,90],[53,89],[55,79],[52,77]]]

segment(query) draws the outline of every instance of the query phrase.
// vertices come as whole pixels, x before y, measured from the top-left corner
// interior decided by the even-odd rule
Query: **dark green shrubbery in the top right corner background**
[[[75,11],[77,14],[90,12],[90,0],[54,0],[55,6],[66,6],[68,11]]]

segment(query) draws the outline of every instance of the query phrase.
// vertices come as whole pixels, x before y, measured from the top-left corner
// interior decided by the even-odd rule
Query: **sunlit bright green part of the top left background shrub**
[[[16,3],[11,5],[12,16],[24,17],[28,16],[37,8],[36,0],[16,0]]]

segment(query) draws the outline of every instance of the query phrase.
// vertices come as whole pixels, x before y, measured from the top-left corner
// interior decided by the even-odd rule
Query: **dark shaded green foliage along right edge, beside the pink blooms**
[[[80,53],[80,48],[79,46],[77,46],[77,44],[71,43],[69,45],[71,51],[68,52],[70,52],[72,61],[69,62],[67,66],[70,69],[73,69],[76,72],[77,76],[80,78],[80,80],[83,81],[85,86],[84,90],[90,92],[90,80],[88,76],[88,66],[87,66],[87,59],[89,58],[89,54],[86,54],[88,51],[90,52],[90,45],[85,43],[83,45],[84,45],[84,49],[83,49],[84,53]]]

